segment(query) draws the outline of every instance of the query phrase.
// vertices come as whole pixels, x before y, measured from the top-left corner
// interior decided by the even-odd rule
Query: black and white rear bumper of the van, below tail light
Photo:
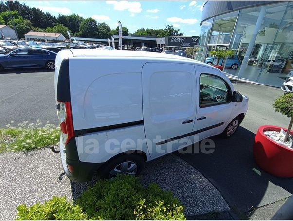
[[[60,156],[63,170],[66,176],[74,182],[87,182],[92,180],[93,174],[103,165],[103,163],[81,162],[78,158],[75,138],[72,138],[66,147],[60,137]],[[73,172],[68,170],[68,166],[73,167]]]

